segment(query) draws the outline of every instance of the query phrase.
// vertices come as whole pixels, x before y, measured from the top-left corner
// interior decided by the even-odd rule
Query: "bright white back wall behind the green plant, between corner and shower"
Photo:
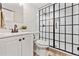
[[[24,24],[28,26],[27,31],[39,31],[38,8],[45,4],[26,3],[23,5]]]

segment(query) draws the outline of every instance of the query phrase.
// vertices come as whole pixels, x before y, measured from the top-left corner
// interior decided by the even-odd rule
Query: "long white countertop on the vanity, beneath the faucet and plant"
[[[0,39],[11,37],[11,36],[18,36],[18,35],[24,35],[24,34],[36,34],[39,32],[18,32],[18,33],[0,33]]]

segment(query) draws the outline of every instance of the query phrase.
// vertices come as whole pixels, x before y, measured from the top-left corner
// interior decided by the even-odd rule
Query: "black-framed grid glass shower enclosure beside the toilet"
[[[79,55],[79,4],[55,3],[39,10],[40,40],[49,46]]]

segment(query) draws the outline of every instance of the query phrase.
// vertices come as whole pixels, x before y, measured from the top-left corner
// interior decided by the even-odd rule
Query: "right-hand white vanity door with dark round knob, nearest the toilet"
[[[33,35],[25,35],[22,40],[22,56],[33,56]]]

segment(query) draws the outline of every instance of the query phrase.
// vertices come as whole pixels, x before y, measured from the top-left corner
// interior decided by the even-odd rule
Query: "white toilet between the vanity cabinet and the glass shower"
[[[36,48],[36,53],[39,55],[39,56],[47,56],[47,53],[46,53],[46,48],[49,47],[49,43],[48,41],[44,41],[44,40],[37,40],[35,42],[37,48]]]

